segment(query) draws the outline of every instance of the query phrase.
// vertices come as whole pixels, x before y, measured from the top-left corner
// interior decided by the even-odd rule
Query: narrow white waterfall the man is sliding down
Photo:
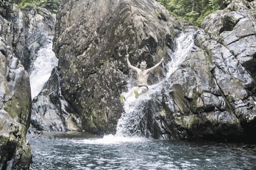
[[[118,120],[116,135],[124,137],[150,136],[150,132],[147,129],[148,116],[145,112],[147,103],[150,102],[152,98],[161,96],[160,93],[163,88],[163,83],[168,81],[168,78],[178,69],[179,65],[185,61],[193,49],[196,49],[193,33],[181,33],[180,36],[176,38],[175,52],[171,53],[171,50],[168,52],[170,61],[166,64],[167,71],[165,78],[158,84],[149,86],[148,92],[141,95],[138,99],[130,97],[124,103],[124,112]]]

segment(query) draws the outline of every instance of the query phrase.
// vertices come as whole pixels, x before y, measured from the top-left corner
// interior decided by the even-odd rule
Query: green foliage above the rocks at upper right
[[[208,14],[224,8],[224,0],[157,0],[171,15],[201,25]]]

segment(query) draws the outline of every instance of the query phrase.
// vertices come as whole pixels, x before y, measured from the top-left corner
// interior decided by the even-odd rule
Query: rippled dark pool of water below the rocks
[[[255,169],[256,144],[28,135],[30,169]]]

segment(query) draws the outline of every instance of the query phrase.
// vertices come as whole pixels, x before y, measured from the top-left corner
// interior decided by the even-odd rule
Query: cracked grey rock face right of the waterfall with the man
[[[254,1],[232,1],[205,18],[204,30],[194,36],[199,49],[166,84],[165,114],[158,115],[162,131],[153,134],[255,140],[254,9]]]

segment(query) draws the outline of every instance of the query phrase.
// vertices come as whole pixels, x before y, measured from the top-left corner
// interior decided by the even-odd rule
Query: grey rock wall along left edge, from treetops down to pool
[[[55,16],[45,9],[0,3],[0,169],[29,169],[29,74],[40,47],[54,33]]]

